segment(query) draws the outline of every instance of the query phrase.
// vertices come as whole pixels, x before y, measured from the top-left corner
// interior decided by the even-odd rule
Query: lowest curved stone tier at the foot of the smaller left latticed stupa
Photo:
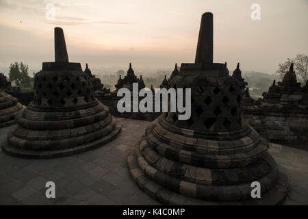
[[[120,124],[116,123],[114,130],[107,136],[104,136],[99,140],[95,140],[94,142],[89,142],[87,144],[75,146],[73,148],[68,148],[68,149],[57,149],[49,151],[24,150],[8,144],[8,140],[4,140],[3,142],[1,142],[1,146],[2,150],[5,153],[8,153],[9,155],[12,155],[14,157],[31,158],[31,159],[49,159],[55,157],[65,157],[89,151],[92,149],[96,149],[99,146],[103,146],[104,144],[111,142],[112,140],[114,140],[114,138],[116,138],[118,133],[120,133],[120,129],[121,129]]]

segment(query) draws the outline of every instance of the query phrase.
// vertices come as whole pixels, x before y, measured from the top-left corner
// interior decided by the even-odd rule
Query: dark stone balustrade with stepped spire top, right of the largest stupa
[[[256,105],[245,107],[247,122],[262,136],[278,144],[308,147],[307,83],[301,88],[294,65],[262,94]]]

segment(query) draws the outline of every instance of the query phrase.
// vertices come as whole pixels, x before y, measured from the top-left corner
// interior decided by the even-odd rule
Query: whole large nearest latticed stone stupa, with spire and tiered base
[[[158,201],[188,204],[277,204],[286,177],[268,153],[268,142],[246,124],[242,85],[225,64],[212,62],[213,15],[203,14],[196,62],[181,64],[170,88],[191,88],[192,114],[164,113],[136,143],[127,162],[133,180]],[[261,185],[252,198],[251,183]]]

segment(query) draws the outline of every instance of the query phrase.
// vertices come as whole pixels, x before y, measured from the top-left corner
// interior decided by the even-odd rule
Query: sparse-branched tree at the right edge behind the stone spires
[[[305,84],[308,79],[308,56],[304,54],[298,54],[294,59],[287,58],[285,62],[279,63],[279,69],[277,74],[281,79],[285,76],[285,73],[290,69],[291,63],[294,63],[294,70],[298,76],[298,81]]]

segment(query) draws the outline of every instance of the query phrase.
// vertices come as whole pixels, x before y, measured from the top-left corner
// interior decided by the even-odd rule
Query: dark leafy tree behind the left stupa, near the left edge
[[[16,86],[22,88],[31,88],[33,86],[33,78],[28,75],[27,64],[15,62],[10,64],[9,81],[14,82]]]

